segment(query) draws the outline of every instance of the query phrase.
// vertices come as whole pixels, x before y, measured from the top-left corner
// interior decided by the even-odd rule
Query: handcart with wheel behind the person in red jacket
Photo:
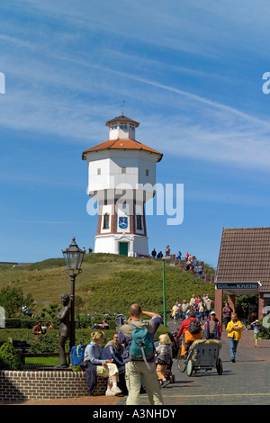
[[[180,372],[192,376],[198,370],[212,370],[216,368],[219,375],[223,372],[223,366],[220,359],[221,342],[215,339],[198,339],[193,342],[189,348],[186,357],[181,356],[179,348],[177,356],[177,366]]]

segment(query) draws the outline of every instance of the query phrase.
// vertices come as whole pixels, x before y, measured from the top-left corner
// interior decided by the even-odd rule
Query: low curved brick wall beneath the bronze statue
[[[104,395],[107,379],[97,377],[94,395]],[[0,371],[1,401],[51,400],[89,395],[85,373],[70,370],[2,370]]]

